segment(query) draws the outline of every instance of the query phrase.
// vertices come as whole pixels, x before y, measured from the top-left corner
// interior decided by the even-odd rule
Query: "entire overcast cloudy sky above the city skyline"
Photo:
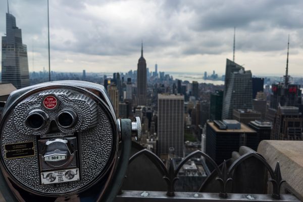
[[[0,35],[7,2],[0,0]],[[22,29],[30,71],[47,62],[46,0],[10,0]],[[303,1],[50,0],[51,68],[63,72],[126,72],[137,68],[143,40],[154,71],[225,73],[232,60],[255,75],[303,76]],[[34,57],[34,58],[33,58]],[[34,59],[34,60],[33,60]]]

